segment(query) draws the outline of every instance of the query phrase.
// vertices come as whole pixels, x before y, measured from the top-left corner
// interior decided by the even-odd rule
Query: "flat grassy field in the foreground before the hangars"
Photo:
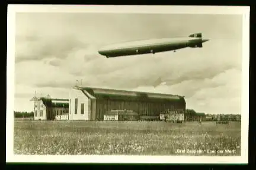
[[[213,152],[207,153],[207,149]],[[240,149],[241,122],[14,123],[15,154],[234,156],[241,154]],[[178,150],[185,153],[176,153]],[[228,150],[231,152],[226,153]]]

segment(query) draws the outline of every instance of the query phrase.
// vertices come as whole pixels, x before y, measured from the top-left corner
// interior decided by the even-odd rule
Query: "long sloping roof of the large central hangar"
[[[97,99],[112,99],[112,100],[139,100],[139,101],[159,101],[167,102],[169,100],[184,100],[183,96],[161,93],[147,93],[141,91],[115,90],[115,89],[100,89],[94,87],[75,87],[87,93],[87,97]],[[89,94],[89,95],[88,95]],[[184,100],[185,101],[185,100]]]

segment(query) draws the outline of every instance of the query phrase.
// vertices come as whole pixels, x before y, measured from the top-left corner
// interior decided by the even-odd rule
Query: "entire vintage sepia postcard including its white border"
[[[246,163],[248,69],[248,6],[9,5],[7,162]]]

